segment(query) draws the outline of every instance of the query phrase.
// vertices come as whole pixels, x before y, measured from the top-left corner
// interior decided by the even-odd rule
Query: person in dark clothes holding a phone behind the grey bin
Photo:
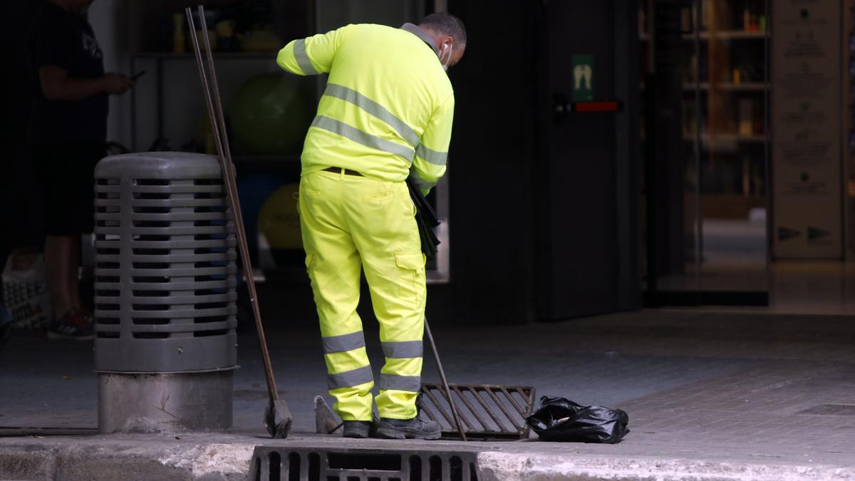
[[[133,80],[104,74],[101,47],[86,20],[92,0],[51,0],[32,25],[32,80],[37,87],[30,128],[44,185],[44,262],[56,321],[48,336],[94,337],[91,311],[80,302],[80,235],[92,231],[93,174],[105,155],[109,94]]]

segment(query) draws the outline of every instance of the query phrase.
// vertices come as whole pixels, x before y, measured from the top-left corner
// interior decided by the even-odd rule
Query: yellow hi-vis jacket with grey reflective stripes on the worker
[[[427,194],[445,174],[454,111],[435,49],[412,24],[357,24],[280,50],[276,62],[293,74],[329,73],[302,175],[342,167],[383,181],[410,176]]]

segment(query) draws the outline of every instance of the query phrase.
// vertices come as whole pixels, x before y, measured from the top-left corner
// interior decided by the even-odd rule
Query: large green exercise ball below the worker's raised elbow
[[[228,109],[239,151],[297,153],[309,128],[310,97],[304,79],[296,75],[260,74],[246,80]]]

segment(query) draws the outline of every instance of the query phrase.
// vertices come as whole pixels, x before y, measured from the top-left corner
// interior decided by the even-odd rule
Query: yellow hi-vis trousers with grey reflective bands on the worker
[[[364,270],[386,354],[377,410],[381,418],[415,417],[427,289],[406,184],[321,170],[300,180],[299,206],[333,408],[345,421],[372,419],[374,376],[357,315]]]

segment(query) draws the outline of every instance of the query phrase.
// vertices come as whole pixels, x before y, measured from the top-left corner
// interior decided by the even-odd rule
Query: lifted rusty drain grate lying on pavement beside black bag
[[[526,418],[534,409],[534,388],[449,384],[467,438],[516,440],[528,437]],[[419,409],[442,425],[445,439],[460,439],[442,384],[422,384]]]

